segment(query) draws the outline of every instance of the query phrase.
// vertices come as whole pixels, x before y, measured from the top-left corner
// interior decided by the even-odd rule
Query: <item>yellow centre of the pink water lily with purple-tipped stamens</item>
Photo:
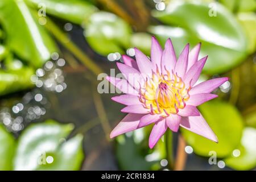
[[[158,71],[152,73],[151,78],[140,88],[140,101],[144,107],[151,110],[151,114],[161,114],[168,117],[177,114],[179,109],[185,107],[185,101],[189,99],[189,86],[182,81],[181,77],[167,71],[166,75]]]

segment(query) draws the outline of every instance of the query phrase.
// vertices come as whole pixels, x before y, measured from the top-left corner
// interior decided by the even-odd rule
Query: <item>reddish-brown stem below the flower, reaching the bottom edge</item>
[[[184,148],[186,146],[185,140],[181,134],[179,134],[178,139],[178,146],[177,146],[177,156],[175,161],[174,170],[175,171],[182,171],[185,167],[185,163],[187,161],[187,153],[185,152]]]

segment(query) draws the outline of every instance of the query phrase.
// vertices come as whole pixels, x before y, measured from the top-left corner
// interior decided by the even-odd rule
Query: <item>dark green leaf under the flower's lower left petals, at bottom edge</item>
[[[158,170],[160,160],[166,158],[166,148],[161,140],[153,150],[148,149],[148,135],[152,127],[135,130],[117,137],[115,147],[119,167],[122,170]]]

